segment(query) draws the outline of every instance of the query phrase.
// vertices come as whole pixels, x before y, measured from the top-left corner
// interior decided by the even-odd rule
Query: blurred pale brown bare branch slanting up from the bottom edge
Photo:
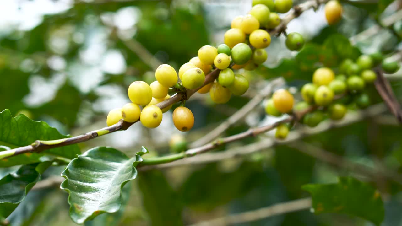
[[[199,222],[197,224],[192,224],[191,226],[221,226],[221,225],[225,226],[232,224],[240,224],[245,222],[261,220],[264,218],[269,218],[271,216],[276,216],[280,214],[287,214],[299,210],[307,210],[309,208],[311,208],[311,198],[296,199],[293,201],[278,203],[257,210],[251,210],[247,212],[242,212],[240,214],[233,214],[221,218],[215,218],[213,220]]]

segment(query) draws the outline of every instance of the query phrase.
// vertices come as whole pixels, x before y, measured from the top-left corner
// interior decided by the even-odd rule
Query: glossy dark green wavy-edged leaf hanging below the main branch
[[[92,148],[74,158],[63,171],[60,187],[69,193],[70,216],[82,224],[102,213],[120,209],[121,189],[137,177],[135,166],[146,153],[142,147],[134,157],[109,147]]]

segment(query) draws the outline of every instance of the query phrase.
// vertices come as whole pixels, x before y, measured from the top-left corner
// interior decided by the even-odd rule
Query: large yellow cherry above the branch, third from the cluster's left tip
[[[128,87],[128,97],[136,105],[145,106],[152,100],[151,87],[143,81],[135,81]]]

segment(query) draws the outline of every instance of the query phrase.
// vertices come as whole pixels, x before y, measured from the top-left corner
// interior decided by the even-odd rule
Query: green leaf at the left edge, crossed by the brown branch
[[[12,117],[8,109],[0,113],[0,145],[16,148],[30,145],[35,140],[57,140],[68,137],[60,134],[57,129],[44,121],[33,121],[23,114]],[[80,148],[73,144],[52,148],[41,153],[25,153],[0,160],[0,167],[41,162],[43,161],[41,157],[46,154],[71,159],[80,154]]]

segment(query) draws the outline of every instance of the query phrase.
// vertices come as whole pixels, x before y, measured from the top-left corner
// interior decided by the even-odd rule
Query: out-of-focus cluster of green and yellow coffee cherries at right
[[[370,97],[365,93],[365,88],[376,80],[377,74],[372,69],[381,63],[382,58],[381,53],[374,53],[360,55],[356,61],[343,60],[335,68],[339,73],[337,75],[330,68],[318,68],[312,76],[312,83],[301,88],[303,101],[294,105],[293,95],[285,89],[279,89],[267,100],[265,111],[279,117],[292,111],[303,112],[315,105],[318,108],[304,115],[300,119],[301,123],[315,127],[327,117],[340,120],[348,107],[365,108],[370,105]],[[390,74],[399,70],[398,62],[390,59],[382,60],[381,67]],[[277,127],[276,137],[284,139],[288,132],[288,125],[282,124]]]

